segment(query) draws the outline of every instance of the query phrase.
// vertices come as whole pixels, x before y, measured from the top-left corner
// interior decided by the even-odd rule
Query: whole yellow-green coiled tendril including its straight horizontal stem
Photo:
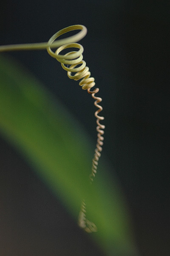
[[[77,30],[77,29],[79,29],[80,32],[78,32],[76,35],[72,35],[68,38],[55,41],[60,35],[63,35],[69,31]],[[98,138],[97,138],[94,158],[92,160],[92,169],[90,174],[90,180],[92,183],[97,172],[99,157],[101,156],[102,145],[104,140],[103,129],[105,129],[105,125],[100,124],[100,121],[104,120],[104,117],[98,115],[102,111],[102,106],[99,105],[99,103],[102,102],[102,98],[95,96],[95,94],[99,92],[99,88],[95,88],[93,91],[91,91],[91,88],[94,87],[95,85],[94,78],[91,77],[89,68],[86,66],[85,61],[83,61],[82,53],[84,49],[82,45],[76,43],[77,41],[85,37],[86,33],[87,33],[87,29],[85,26],[82,26],[82,25],[68,26],[65,29],[61,29],[56,34],[54,34],[47,43],[45,42],[45,43],[35,43],[35,44],[4,45],[4,46],[0,46],[0,52],[36,50],[36,49],[39,50],[39,49],[45,49],[47,47],[47,51],[49,55],[51,55],[51,57],[53,58],[56,58],[57,61],[61,63],[62,68],[67,71],[68,77],[70,79],[74,79],[74,80],[81,79],[81,81],[79,82],[79,85],[82,87],[83,90],[88,90],[88,93],[90,93],[91,96],[95,99],[94,105],[98,108],[98,110],[94,114],[96,116],[96,123],[97,123],[96,131],[98,132],[97,133]],[[56,52],[53,52],[51,50],[51,48],[54,48],[54,47],[59,47],[56,50]],[[65,55],[59,54],[59,52],[61,52],[62,50],[68,49],[71,47],[77,48],[79,50],[68,52]],[[67,65],[67,67],[65,65]],[[75,73],[75,74],[72,76],[72,73]],[[96,232],[97,228],[95,224],[91,221],[88,221],[85,213],[86,213],[86,206],[85,206],[85,200],[83,200],[81,205],[81,210],[79,212],[79,219],[78,219],[79,226],[88,233]]]

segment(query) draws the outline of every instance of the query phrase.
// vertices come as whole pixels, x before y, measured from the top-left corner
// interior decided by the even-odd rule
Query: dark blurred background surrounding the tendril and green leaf
[[[103,153],[125,193],[140,256],[170,254],[169,11],[164,1],[125,0],[6,1],[0,11],[0,44],[48,41],[74,24],[88,28],[80,43],[103,98]],[[46,51],[6,55],[42,81],[95,141],[93,102],[56,60]],[[102,256],[28,163],[3,137],[0,143],[0,255]]]

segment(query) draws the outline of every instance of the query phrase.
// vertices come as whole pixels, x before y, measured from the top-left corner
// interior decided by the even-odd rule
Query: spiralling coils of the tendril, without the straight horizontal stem
[[[89,68],[86,66],[86,63],[83,60],[82,53],[84,49],[81,44],[69,42],[69,38],[67,38],[66,39],[67,44],[60,46],[59,48],[57,48],[55,52],[51,50],[51,44],[56,40],[56,38],[58,38],[60,35],[66,32],[76,30],[76,29],[82,30],[81,38],[85,36],[87,32],[87,29],[85,28],[85,26],[82,26],[82,25],[69,26],[65,29],[60,30],[50,38],[50,40],[48,41],[47,51],[53,58],[56,58],[57,61],[61,63],[62,68],[67,71],[67,75],[70,79],[74,79],[76,81],[81,79],[81,81],[79,82],[79,85],[82,87],[83,90],[87,90],[88,93],[91,94],[92,98],[95,100],[94,105],[96,106],[96,108],[98,108],[98,110],[94,114],[96,117],[96,123],[97,123],[97,127],[96,127],[97,143],[96,143],[94,158],[92,160],[92,168],[91,168],[91,174],[90,174],[90,181],[92,183],[97,172],[99,157],[101,156],[102,145],[104,140],[103,130],[105,129],[105,125],[100,124],[100,121],[104,120],[104,117],[99,116],[99,113],[102,111],[102,106],[99,105],[99,103],[102,102],[102,98],[95,96],[95,94],[99,92],[99,88],[95,88],[94,90],[91,91],[91,88],[94,87],[95,82],[94,82],[94,78],[91,77],[91,72],[89,71]],[[59,54],[60,52],[62,52],[62,50],[69,49],[69,48],[77,48],[78,50],[68,52],[64,55]],[[72,73],[74,73],[74,75],[72,75]],[[85,212],[86,212],[85,201],[82,201],[82,207],[79,213],[79,226],[82,227],[88,233],[94,232],[96,230],[96,226],[94,225],[94,223],[86,219]]]

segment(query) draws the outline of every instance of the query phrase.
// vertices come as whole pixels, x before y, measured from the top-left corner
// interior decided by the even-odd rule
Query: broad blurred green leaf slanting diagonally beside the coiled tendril
[[[75,221],[86,199],[87,217],[98,227],[89,236],[106,255],[137,255],[124,198],[109,177],[109,164],[100,160],[91,188],[88,175],[93,156],[89,151],[93,146],[87,134],[37,79],[2,57],[0,131],[61,198]]]

